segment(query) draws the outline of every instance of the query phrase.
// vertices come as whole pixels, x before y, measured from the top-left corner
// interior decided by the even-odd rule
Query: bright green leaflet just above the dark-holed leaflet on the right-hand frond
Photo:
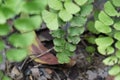
[[[100,47],[108,47],[113,43],[113,39],[111,37],[99,37],[95,39],[95,42]]]

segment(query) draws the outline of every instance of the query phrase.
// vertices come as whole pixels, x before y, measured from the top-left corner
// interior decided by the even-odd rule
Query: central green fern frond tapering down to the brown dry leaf
[[[56,4],[51,5],[53,4],[52,2],[58,5],[62,3],[62,7],[58,7]],[[76,50],[76,45],[81,40],[80,35],[85,30],[84,25],[87,21],[87,17],[93,10],[91,2],[87,2],[88,0],[75,0],[75,2],[72,0],[48,1],[49,7],[54,9],[50,10],[50,12],[58,15],[58,23],[63,26],[54,30],[52,29],[53,31],[51,32],[52,36],[55,38],[53,43],[54,49],[57,52],[58,61],[62,64],[70,61],[70,57]],[[60,21],[62,21],[62,23]],[[47,21],[45,22],[48,24]]]

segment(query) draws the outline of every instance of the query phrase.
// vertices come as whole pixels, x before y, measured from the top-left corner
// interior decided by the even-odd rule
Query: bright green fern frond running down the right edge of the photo
[[[86,39],[89,43],[97,45],[100,54],[109,55],[103,60],[103,63],[112,66],[108,73],[115,76],[115,80],[120,79],[120,22],[119,11],[117,10],[120,7],[119,2],[119,0],[106,1],[103,10],[94,14],[95,23],[93,21],[88,22],[87,29],[93,36],[99,37],[94,36],[95,43],[91,42],[94,39]]]

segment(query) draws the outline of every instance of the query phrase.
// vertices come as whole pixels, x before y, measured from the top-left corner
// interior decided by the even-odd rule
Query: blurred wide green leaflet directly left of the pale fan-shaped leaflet
[[[19,18],[15,20],[14,25],[20,32],[28,32],[40,28],[41,23],[40,16],[32,16],[29,18]]]

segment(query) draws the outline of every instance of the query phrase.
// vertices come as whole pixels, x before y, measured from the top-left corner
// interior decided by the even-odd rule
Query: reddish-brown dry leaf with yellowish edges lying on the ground
[[[29,47],[29,51],[31,53],[31,59],[34,59],[35,62],[49,65],[59,64],[57,58],[49,52],[49,49],[44,47],[37,37],[34,43]]]

